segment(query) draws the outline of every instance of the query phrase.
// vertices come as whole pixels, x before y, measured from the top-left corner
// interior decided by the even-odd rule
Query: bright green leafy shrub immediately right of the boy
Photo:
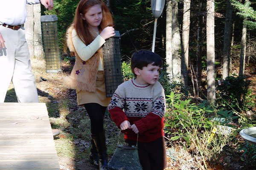
[[[212,122],[207,117],[214,113],[206,102],[200,105],[190,103],[191,99],[182,100],[183,94],[171,92],[166,95],[167,112],[165,115],[165,132],[170,135],[170,140],[180,139],[190,145],[188,128],[196,128],[198,133],[212,128]]]

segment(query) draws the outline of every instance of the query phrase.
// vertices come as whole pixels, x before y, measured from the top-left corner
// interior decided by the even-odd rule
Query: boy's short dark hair
[[[147,67],[148,64],[162,67],[163,61],[158,54],[149,50],[140,50],[132,54],[131,71],[135,77],[136,77],[136,74],[134,73],[134,68],[142,69],[143,67]]]

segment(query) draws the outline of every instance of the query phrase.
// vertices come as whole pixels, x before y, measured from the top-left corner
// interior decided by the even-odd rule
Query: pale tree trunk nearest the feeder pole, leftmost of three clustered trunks
[[[172,80],[172,0],[166,1],[166,72]]]

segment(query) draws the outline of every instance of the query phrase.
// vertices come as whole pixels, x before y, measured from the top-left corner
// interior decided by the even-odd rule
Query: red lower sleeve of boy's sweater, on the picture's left
[[[128,117],[125,115],[125,112],[121,108],[114,107],[108,111],[110,113],[111,119],[113,122],[115,122],[118,128],[120,128],[120,124],[125,120],[129,121]]]

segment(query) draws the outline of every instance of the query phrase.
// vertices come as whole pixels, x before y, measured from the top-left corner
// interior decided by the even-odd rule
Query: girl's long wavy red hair
[[[71,25],[74,26],[78,37],[85,45],[89,45],[95,37],[90,33],[86,20],[83,20],[80,14],[84,15],[90,7],[95,5],[100,5],[102,8],[102,22],[99,25],[99,33],[101,33],[101,31],[107,26],[113,26],[113,18],[103,0],[80,0]]]

